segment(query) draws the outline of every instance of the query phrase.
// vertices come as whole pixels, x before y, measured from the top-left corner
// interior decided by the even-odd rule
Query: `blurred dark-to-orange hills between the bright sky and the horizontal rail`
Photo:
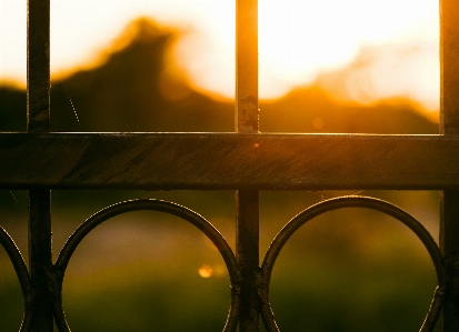
[[[52,82],[52,131],[233,131],[232,101],[214,100],[169,73],[167,52],[178,31],[143,18],[127,36],[126,47],[103,64]],[[318,84],[261,101],[260,109],[263,132],[438,133],[409,101],[341,104]],[[24,91],[0,87],[0,130],[26,130]]]

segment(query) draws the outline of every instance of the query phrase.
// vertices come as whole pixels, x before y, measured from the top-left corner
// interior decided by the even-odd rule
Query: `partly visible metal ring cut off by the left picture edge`
[[[20,331],[29,331],[32,313],[30,311],[30,302],[31,302],[31,289],[30,289],[30,275],[29,271],[27,270],[24,260],[19,251],[18,247],[16,245],[14,241],[8,234],[8,232],[0,227],[0,244],[7,251],[8,256],[14,268],[16,274],[18,275],[19,283],[21,285],[22,296],[24,300],[24,315],[22,318],[22,323]]]

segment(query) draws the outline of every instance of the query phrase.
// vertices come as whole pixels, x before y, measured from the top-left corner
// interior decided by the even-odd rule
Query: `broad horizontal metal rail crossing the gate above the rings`
[[[443,135],[0,133],[0,188],[459,189],[458,155]]]

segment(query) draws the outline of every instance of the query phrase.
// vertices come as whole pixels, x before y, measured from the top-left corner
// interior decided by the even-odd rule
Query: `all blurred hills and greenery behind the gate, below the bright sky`
[[[233,102],[196,91],[169,57],[178,31],[140,19],[100,66],[51,87],[52,131],[233,131]],[[409,100],[340,103],[320,82],[260,102],[262,132],[438,133]],[[76,113],[78,114],[78,119]],[[26,92],[0,87],[0,130],[26,130]],[[356,192],[261,192],[260,253],[303,209]],[[370,192],[409,211],[436,237],[436,192]],[[229,191],[52,191],[53,255],[89,215],[121,200],[163,199],[208,219],[235,249]],[[0,191],[0,224],[27,261],[27,192]],[[114,218],[86,239],[66,273],[72,331],[221,331],[229,279],[218,251],[196,229],[160,213]],[[2,255],[3,254],[3,255]],[[202,265],[214,275],[201,278]],[[19,284],[0,250],[0,331],[18,331]],[[289,240],[276,264],[271,300],[282,331],[419,330],[436,280],[418,239],[382,213],[327,213]],[[263,331],[263,330],[261,330]]]

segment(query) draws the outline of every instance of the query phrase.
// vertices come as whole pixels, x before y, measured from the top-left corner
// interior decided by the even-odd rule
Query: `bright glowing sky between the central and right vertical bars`
[[[261,0],[260,94],[279,97],[378,47],[368,66],[366,101],[406,95],[437,110],[438,16],[436,0]]]

